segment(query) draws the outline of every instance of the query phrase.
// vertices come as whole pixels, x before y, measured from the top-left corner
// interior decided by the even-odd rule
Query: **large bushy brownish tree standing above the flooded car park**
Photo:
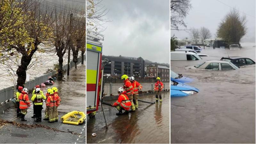
[[[217,36],[227,42],[239,43],[246,32],[246,16],[240,16],[240,13],[233,9],[220,22]]]

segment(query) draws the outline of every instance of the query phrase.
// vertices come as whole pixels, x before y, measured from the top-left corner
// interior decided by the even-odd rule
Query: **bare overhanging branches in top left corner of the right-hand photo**
[[[191,8],[190,0],[171,0],[170,8],[171,28],[178,30],[178,25],[187,28],[187,25],[183,21],[183,18],[188,15],[188,12]]]

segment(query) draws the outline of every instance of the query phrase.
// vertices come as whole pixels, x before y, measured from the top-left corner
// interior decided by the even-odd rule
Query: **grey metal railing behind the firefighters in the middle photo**
[[[142,92],[145,91],[153,91],[154,90],[154,83],[140,83],[142,85]],[[163,83],[164,84],[164,90],[170,90],[170,83]],[[123,87],[123,83],[119,84],[104,84],[104,94],[105,95],[111,95],[111,94],[117,94],[118,88]]]

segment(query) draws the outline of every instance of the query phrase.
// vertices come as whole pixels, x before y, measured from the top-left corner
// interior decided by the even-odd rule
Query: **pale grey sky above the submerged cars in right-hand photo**
[[[187,23],[187,28],[190,29],[206,27],[212,33],[212,38],[217,32],[218,25],[225,15],[234,7],[240,11],[241,15],[248,14],[247,28],[248,32],[243,37],[243,41],[255,42],[255,0],[191,0],[192,8],[188,16],[184,19]],[[227,4],[227,5],[225,5]],[[230,6],[230,7],[229,7]],[[244,13],[243,13],[244,12]],[[179,27],[183,29],[183,27]],[[185,31],[171,30],[171,35],[175,34],[178,38],[189,37]]]

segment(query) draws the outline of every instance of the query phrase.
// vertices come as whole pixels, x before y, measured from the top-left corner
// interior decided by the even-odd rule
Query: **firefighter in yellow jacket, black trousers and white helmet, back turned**
[[[43,107],[43,103],[44,100],[46,99],[46,97],[44,95],[42,95],[40,93],[40,88],[36,88],[36,93],[32,96],[31,100],[34,103],[34,111],[36,113],[36,120],[34,120],[35,122],[41,122],[42,120],[42,107]]]

